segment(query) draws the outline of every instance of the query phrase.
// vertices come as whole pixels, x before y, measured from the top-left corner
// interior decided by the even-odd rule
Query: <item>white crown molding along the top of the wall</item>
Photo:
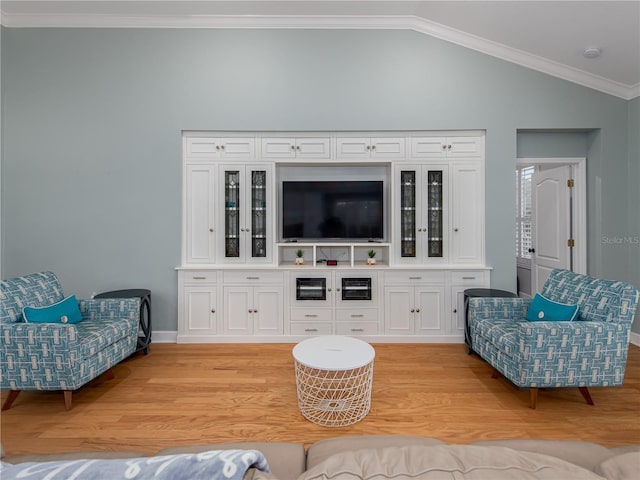
[[[277,28],[413,30],[625,100],[640,96],[626,85],[440,23],[411,16],[343,15],[26,15],[0,12],[13,28]]]

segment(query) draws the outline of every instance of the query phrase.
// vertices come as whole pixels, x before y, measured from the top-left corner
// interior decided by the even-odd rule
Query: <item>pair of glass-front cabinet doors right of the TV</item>
[[[447,166],[403,165],[396,174],[398,262],[446,260]]]

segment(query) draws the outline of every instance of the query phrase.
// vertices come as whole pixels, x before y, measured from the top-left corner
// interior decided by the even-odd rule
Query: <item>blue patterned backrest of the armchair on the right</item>
[[[626,282],[603,280],[555,269],[542,287],[542,295],[559,303],[578,305],[578,320],[628,323],[638,305],[638,289]]]

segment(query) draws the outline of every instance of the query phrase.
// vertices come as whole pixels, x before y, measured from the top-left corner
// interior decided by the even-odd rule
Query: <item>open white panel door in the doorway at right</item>
[[[554,268],[570,268],[571,166],[551,168],[533,174],[531,294],[540,292]]]

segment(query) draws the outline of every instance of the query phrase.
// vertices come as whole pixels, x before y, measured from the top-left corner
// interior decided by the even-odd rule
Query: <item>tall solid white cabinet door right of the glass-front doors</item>
[[[452,163],[451,263],[484,263],[484,179],[477,162]],[[446,230],[445,230],[446,231]]]

